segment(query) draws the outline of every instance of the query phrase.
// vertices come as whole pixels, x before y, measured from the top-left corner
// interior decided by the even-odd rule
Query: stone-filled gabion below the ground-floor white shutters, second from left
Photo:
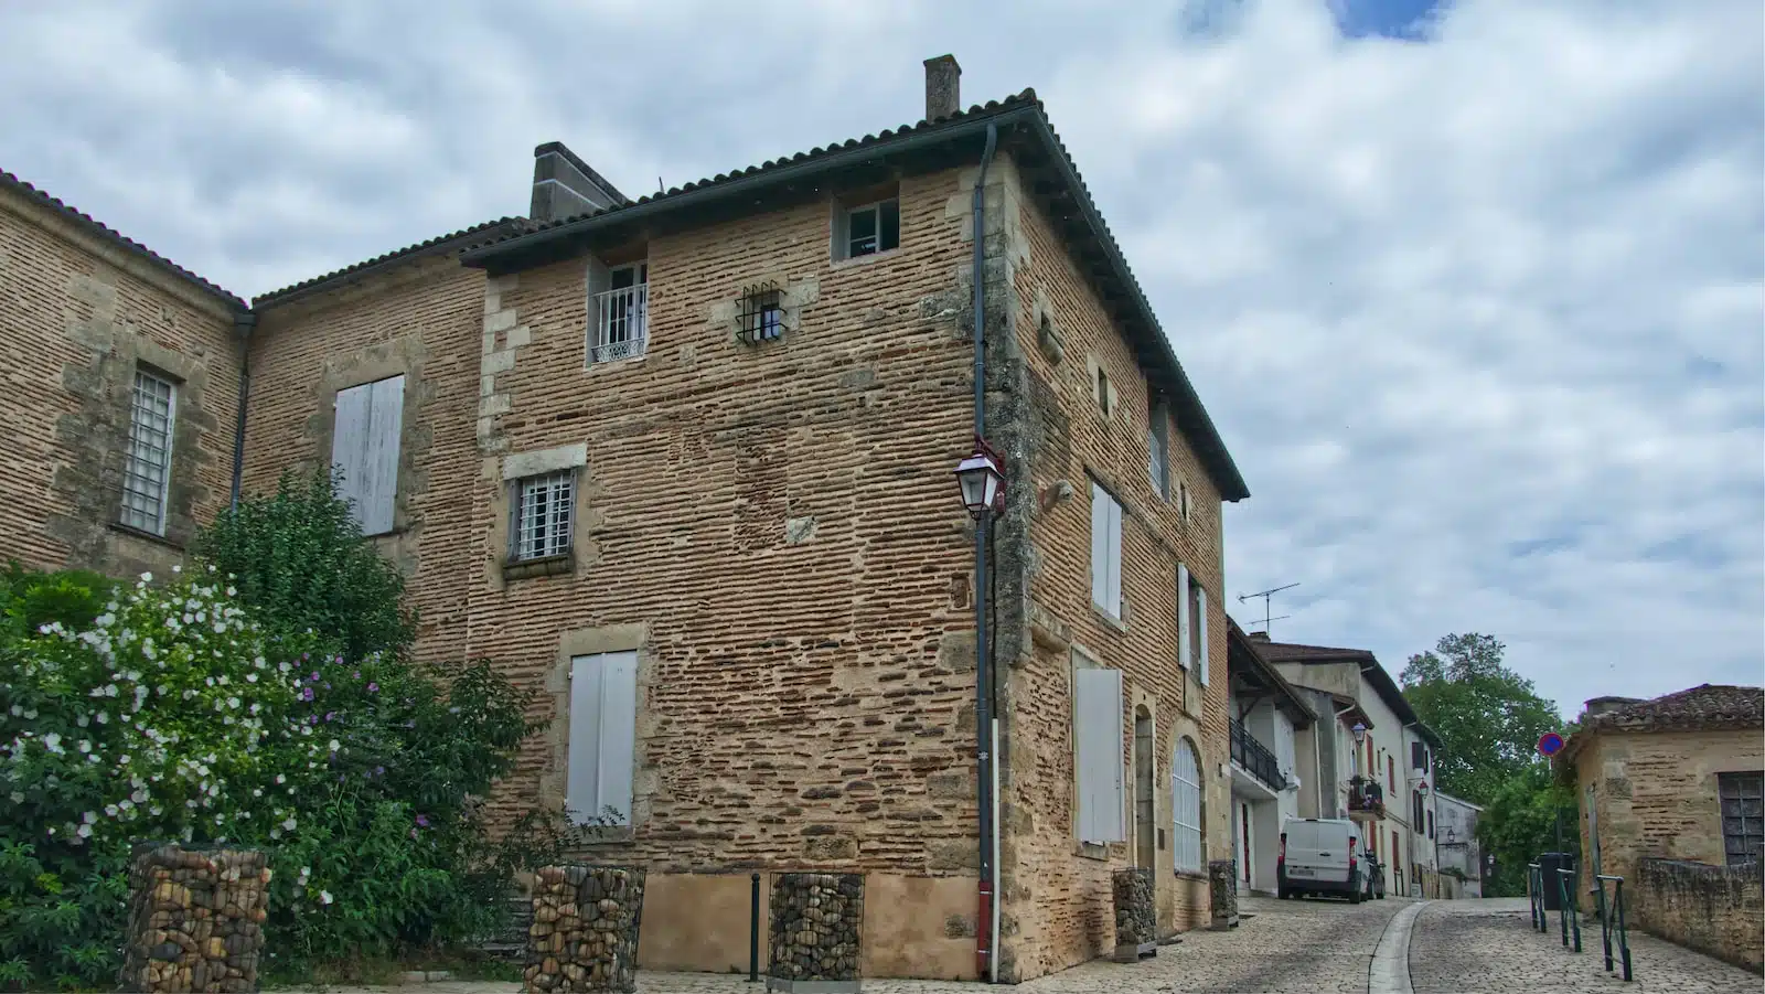
[[[637,990],[644,870],[542,867],[522,990]]]

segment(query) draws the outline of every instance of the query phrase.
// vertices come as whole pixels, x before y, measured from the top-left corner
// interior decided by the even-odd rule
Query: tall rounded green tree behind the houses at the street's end
[[[1541,734],[1562,729],[1557,704],[1504,651],[1491,636],[1453,634],[1403,667],[1403,696],[1440,736],[1435,784],[1481,805],[1532,766]]]

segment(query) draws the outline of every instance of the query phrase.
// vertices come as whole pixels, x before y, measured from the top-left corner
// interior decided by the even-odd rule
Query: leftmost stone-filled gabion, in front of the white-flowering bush
[[[268,883],[258,851],[136,846],[122,990],[258,990]]]

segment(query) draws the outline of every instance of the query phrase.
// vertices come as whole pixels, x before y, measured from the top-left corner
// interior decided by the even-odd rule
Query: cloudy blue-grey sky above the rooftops
[[[251,297],[1034,87],[1253,498],[1228,606],[1573,717],[1765,667],[1758,0],[0,4],[0,168]],[[519,11],[519,12],[517,12]]]

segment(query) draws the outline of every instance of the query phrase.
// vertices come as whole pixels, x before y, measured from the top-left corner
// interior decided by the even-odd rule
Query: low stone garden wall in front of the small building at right
[[[1638,860],[1626,881],[1629,925],[1761,971],[1765,960],[1765,863],[1717,867],[1686,860]]]

